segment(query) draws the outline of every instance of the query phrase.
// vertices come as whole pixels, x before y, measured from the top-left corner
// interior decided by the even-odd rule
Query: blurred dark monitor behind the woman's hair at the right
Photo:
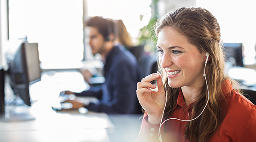
[[[243,67],[242,43],[223,43],[225,56],[233,66]]]

